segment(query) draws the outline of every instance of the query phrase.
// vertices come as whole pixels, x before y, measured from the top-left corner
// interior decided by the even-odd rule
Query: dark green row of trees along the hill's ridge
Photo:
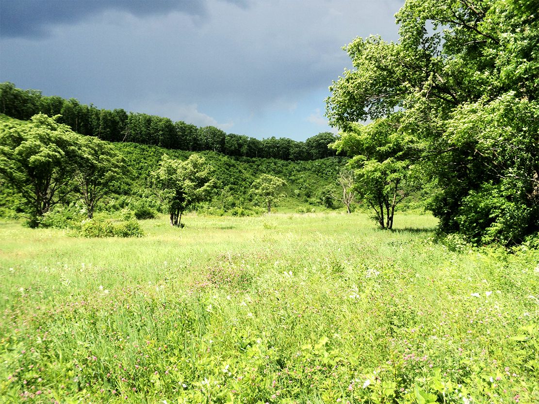
[[[166,149],[216,151],[227,156],[278,158],[307,161],[335,156],[328,144],[335,135],[323,132],[305,142],[269,137],[262,140],[246,135],[227,134],[213,126],[197,127],[183,121],[123,109],[99,109],[78,100],[44,96],[39,90],[24,90],[13,83],[0,83],[0,113],[19,120],[29,120],[42,113],[61,115],[64,123],[81,135],[95,136],[109,142],[133,142]]]

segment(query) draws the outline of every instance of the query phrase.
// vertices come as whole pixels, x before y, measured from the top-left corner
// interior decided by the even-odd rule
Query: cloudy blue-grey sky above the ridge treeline
[[[324,117],[342,47],[398,39],[404,0],[1,0],[0,82],[304,141]]]

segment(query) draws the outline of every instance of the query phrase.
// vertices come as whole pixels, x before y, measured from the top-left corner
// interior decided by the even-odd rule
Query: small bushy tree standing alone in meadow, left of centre
[[[165,154],[152,175],[158,197],[170,215],[171,226],[183,227],[183,213],[209,200],[216,185],[211,166],[203,156],[197,154],[192,154],[184,162]]]

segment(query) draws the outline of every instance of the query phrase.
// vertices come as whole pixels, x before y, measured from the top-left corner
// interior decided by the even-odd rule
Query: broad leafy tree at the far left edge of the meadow
[[[57,120],[38,114],[0,130],[0,175],[25,200],[33,227],[73,191],[79,136]]]

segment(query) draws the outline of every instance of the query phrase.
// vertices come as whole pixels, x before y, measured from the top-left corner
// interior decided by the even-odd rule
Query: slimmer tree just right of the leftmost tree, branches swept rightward
[[[123,157],[109,144],[94,137],[80,138],[74,191],[86,206],[88,219],[93,218],[95,205],[127,177]]]

